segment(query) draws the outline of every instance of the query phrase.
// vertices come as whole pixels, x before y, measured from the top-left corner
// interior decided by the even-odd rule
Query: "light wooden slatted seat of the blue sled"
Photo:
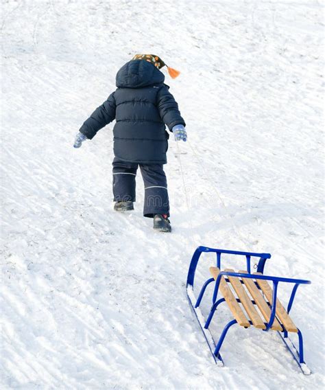
[[[227,272],[234,272],[232,269],[226,269]],[[247,271],[238,271],[239,273],[248,273]],[[214,279],[217,279],[220,270],[217,267],[210,267],[210,273],[213,275]],[[254,273],[253,275],[262,275],[261,273]],[[262,279],[256,279],[256,283],[261,288],[261,290],[258,289],[256,286],[256,283],[254,279],[248,279],[243,277],[242,279],[239,279],[239,277],[233,277],[228,276],[229,282],[234,289],[234,292],[236,292],[237,297],[239,298],[239,301],[241,302],[241,305],[245,309],[246,313],[248,314],[248,318],[250,321],[252,321],[252,324],[255,328],[259,329],[265,329],[265,322],[269,322],[269,318],[271,317],[271,309],[269,308],[269,303],[272,304],[272,295],[273,290],[272,287],[269,286],[269,283],[267,280]],[[243,284],[241,283],[241,280],[243,281]],[[247,288],[247,291],[245,290],[244,286]],[[232,290],[228,286],[226,279],[224,277],[221,277],[219,290],[221,291],[221,294],[224,296],[225,301],[228,303],[228,306],[232,312],[232,315],[234,316],[234,319],[236,319],[237,323],[239,325],[244,326],[245,328],[248,328],[250,326],[250,323],[248,322],[245,312],[242,310],[241,306],[239,306],[239,303],[237,302],[236,297],[234,296]],[[250,295],[248,294],[250,293]],[[263,294],[265,297],[263,296]],[[266,300],[266,299],[267,300]],[[265,321],[261,318],[261,315],[258,313],[256,308],[254,307],[254,304],[252,303],[252,300],[254,300],[254,303],[256,303],[256,306],[260,310],[260,312],[263,314],[263,317]],[[267,301],[269,303],[267,303]],[[280,322],[279,322],[280,321]],[[282,325],[287,330],[287,332],[298,332],[298,328],[293,323],[291,318],[289,317],[289,314],[285,310],[285,308],[280,303],[279,299],[276,299],[276,318],[274,318],[274,323],[272,324],[272,330],[279,330],[282,331]]]

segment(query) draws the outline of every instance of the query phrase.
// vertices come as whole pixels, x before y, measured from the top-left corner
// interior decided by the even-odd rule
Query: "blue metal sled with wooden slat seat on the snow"
[[[207,252],[216,253],[216,266],[210,267],[211,277],[203,284],[200,294],[196,298],[193,290],[195,271],[200,256],[202,253]],[[244,256],[246,265],[245,271],[235,272],[231,268],[220,271],[221,254]],[[251,260],[254,257],[257,257],[258,260],[256,261],[256,272],[252,273]],[[304,362],[302,333],[299,328],[296,327],[295,323],[293,323],[291,317],[289,317],[289,312],[293,306],[293,300],[296,296],[298,286],[300,286],[300,284],[311,284],[311,282],[303,279],[263,275],[265,262],[270,257],[271,255],[269,253],[226,251],[224,249],[199,246],[193,253],[187,276],[186,290],[187,296],[189,297],[189,303],[195,312],[197,321],[202,328],[210,352],[217,365],[224,365],[220,349],[224,343],[228,330],[232,325],[237,323],[246,329],[252,326],[263,332],[268,332],[269,330],[278,332],[287,349],[291,352],[294,360],[298,363],[302,373],[309,375],[311,374],[311,370]],[[271,286],[269,282],[272,282]],[[211,283],[213,283],[214,286],[212,306],[207,319],[204,319],[202,311],[200,310],[200,303],[202,302],[206,288]],[[293,284],[287,310],[282,306],[282,303],[280,303],[278,299],[279,283]],[[217,311],[217,307],[225,301],[232,312],[234,319],[226,324],[219,336],[219,340],[215,343],[208,328]],[[289,333],[297,334],[298,348],[289,338]]]

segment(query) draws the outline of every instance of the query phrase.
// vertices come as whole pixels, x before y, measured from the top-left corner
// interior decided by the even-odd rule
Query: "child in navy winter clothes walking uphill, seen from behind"
[[[143,215],[154,218],[154,229],[171,231],[169,199],[163,164],[169,134],[186,141],[185,122],[165,76],[159,70],[165,62],[153,54],[137,54],[117,72],[117,90],[91,114],[75,138],[75,148],[95,137],[114,119],[113,194],[116,211],[133,210],[136,200],[136,170],[140,167],[145,184]],[[167,67],[172,78],[178,71]]]

